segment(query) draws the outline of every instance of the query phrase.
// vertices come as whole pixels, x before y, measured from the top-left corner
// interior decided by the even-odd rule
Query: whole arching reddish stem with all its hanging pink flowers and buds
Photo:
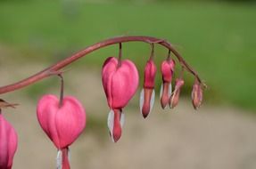
[[[63,96],[63,77],[62,72],[57,71],[73,60],[78,59],[81,54],[92,52],[97,48],[116,44],[117,42],[127,42],[129,40],[140,40],[147,43],[145,39],[155,40],[153,37],[144,36],[127,36],[116,37],[106,41],[105,43],[95,44],[88,47],[87,50],[79,52],[79,54],[68,58],[54,65],[51,68],[46,68],[44,71],[31,76],[17,84],[7,85],[2,87],[2,93],[12,91],[16,88],[21,88],[26,84],[32,84],[37,80],[51,75],[58,75],[62,79],[60,98],[53,94],[44,95],[37,103],[37,120],[48,138],[54,143],[57,153],[57,168],[70,169],[70,145],[78,139],[78,136],[84,131],[86,127],[86,110],[83,108],[80,101],[73,96]],[[161,62],[161,90],[160,101],[161,108],[173,109],[178,105],[179,94],[184,85],[183,71],[188,70],[194,74],[194,86],[192,90],[192,102],[194,109],[198,109],[202,104],[202,82],[199,76],[194,73],[192,68],[187,66],[186,61],[176,53],[178,62],[181,64],[180,76],[175,79],[175,87],[172,90],[172,81],[175,71],[176,62],[170,58],[171,45],[165,41],[155,41],[154,43],[161,43],[168,46],[169,54],[166,60]],[[148,117],[153,110],[155,100],[155,76],[157,67],[153,61],[153,43],[152,53],[150,59],[146,61],[144,70],[143,88],[140,93],[139,106],[140,112],[144,118]],[[172,51],[175,51],[172,49]],[[174,52],[175,53],[175,52]],[[50,71],[51,70],[51,71]],[[122,128],[125,121],[125,114],[123,109],[128,105],[135,95],[139,85],[139,74],[136,65],[131,60],[121,60],[121,43],[119,58],[109,57],[103,63],[102,68],[102,82],[103,90],[106,95],[110,112],[107,118],[107,125],[114,142],[120,140]],[[0,88],[1,93],[1,88]],[[13,129],[2,115],[2,108],[16,106],[0,99],[0,169],[12,169],[12,160],[17,149],[18,137]]]

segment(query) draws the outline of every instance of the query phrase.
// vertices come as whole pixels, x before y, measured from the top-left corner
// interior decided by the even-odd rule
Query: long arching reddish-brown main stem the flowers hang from
[[[152,43],[153,44],[161,44],[162,46],[168,48],[178,58],[178,61],[180,62],[180,64],[182,66],[184,66],[184,68],[186,68],[186,70],[188,72],[193,74],[195,76],[195,78],[198,80],[198,82],[202,84],[202,80],[198,76],[198,74],[194,71],[193,68],[191,68],[186,63],[186,60],[184,60],[182,58],[182,56],[176,51],[176,49],[169,42],[162,40],[160,38],[151,37],[151,36],[119,36],[119,37],[113,37],[110,39],[106,39],[97,44],[90,45],[86,49],[73,54],[69,58],[61,60],[61,61],[57,62],[56,64],[54,64],[53,66],[51,66],[49,68],[45,68],[44,70],[38,72],[37,74],[35,74],[33,76],[29,76],[28,78],[23,79],[20,82],[2,86],[2,87],[0,87],[0,94],[9,93],[9,92],[21,89],[22,87],[25,87],[29,84],[34,84],[37,81],[39,81],[47,76],[52,76],[53,75],[52,72],[58,71],[61,68],[66,67],[73,61],[78,60],[79,58],[87,55],[90,52],[94,52],[100,48],[103,48],[103,47],[111,45],[111,44],[120,44],[120,43],[131,42],[131,41],[139,41],[139,42],[145,42],[145,43],[150,43],[150,44],[152,44]]]

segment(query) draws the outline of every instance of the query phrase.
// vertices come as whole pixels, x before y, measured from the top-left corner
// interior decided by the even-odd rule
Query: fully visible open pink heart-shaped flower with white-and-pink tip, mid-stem
[[[130,60],[119,62],[114,57],[105,60],[102,70],[103,88],[111,108],[108,117],[108,127],[113,141],[121,136],[124,122],[124,108],[136,93],[138,86],[138,72],[135,64]]]

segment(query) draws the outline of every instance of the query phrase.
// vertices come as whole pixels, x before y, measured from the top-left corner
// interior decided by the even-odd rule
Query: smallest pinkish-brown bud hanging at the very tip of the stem
[[[191,97],[194,109],[198,109],[202,104],[202,87],[198,80],[194,81]]]

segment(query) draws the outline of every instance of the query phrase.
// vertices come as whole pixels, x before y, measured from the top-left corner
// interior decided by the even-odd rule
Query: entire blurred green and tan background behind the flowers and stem
[[[125,109],[128,117],[122,139],[113,145],[106,127],[109,109],[100,71],[107,57],[118,55],[119,46],[93,52],[72,63],[65,73],[65,93],[78,97],[87,109],[86,134],[72,146],[71,165],[254,169],[255,30],[253,0],[0,0],[0,85],[21,80],[113,36],[167,39],[208,85],[199,113],[191,113],[194,78],[186,73],[182,100],[177,109],[164,110],[168,114],[158,113],[162,110],[157,98],[152,117],[143,121],[137,93]],[[136,63],[141,77],[150,50],[145,43],[123,44],[123,57]],[[156,46],[158,69],[167,52]],[[158,73],[157,93],[160,85]],[[14,168],[54,166],[55,149],[35,116],[37,100],[45,93],[59,93],[56,77],[1,96],[21,103],[15,109],[19,113],[4,110],[20,138]]]

